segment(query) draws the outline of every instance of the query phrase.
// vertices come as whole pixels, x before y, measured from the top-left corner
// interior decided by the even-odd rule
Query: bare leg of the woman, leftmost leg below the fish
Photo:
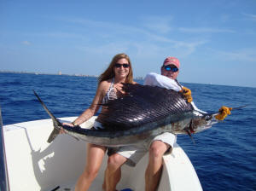
[[[75,191],[86,191],[91,182],[96,178],[97,173],[102,165],[102,159],[106,148],[88,143],[86,153],[86,165],[83,174],[79,177]]]

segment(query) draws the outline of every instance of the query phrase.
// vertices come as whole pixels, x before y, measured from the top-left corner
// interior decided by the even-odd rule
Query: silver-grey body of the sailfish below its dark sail
[[[151,140],[154,136],[160,135],[164,132],[186,134],[186,131],[183,129],[189,126],[192,117],[193,113],[185,113],[183,115],[183,119],[180,121],[168,124],[168,121],[172,118],[172,116],[169,116],[169,118],[154,121],[153,123],[145,124],[137,129],[133,128],[130,130],[85,130],[79,127],[73,129],[67,126],[65,126],[64,129],[67,130],[67,134],[84,140],[85,142],[102,146],[119,147],[148,142],[148,140]],[[155,126],[158,128],[154,128]]]

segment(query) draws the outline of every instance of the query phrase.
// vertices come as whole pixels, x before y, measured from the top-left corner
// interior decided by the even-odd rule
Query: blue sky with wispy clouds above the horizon
[[[0,0],[0,70],[135,77],[181,61],[178,80],[256,87],[256,1]]]

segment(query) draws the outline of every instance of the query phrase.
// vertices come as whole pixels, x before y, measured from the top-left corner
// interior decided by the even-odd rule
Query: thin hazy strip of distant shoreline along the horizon
[[[16,72],[16,71],[0,71],[0,73],[25,73],[25,74],[35,74],[35,75],[55,75],[55,76],[78,76],[78,77],[93,77],[98,78],[97,75],[85,75],[85,74],[65,74],[62,72],[58,73],[44,73],[44,72]],[[143,77],[136,77],[135,79],[143,79]]]

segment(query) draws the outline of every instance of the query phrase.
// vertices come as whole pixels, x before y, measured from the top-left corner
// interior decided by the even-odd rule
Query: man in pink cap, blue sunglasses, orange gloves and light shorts
[[[199,110],[192,102],[191,91],[177,82],[180,62],[175,57],[167,57],[161,66],[161,75],[151,72],[144,78],[145,85],[160,86],[166,89],[181,91],[184,98],[191,102],[195,110]],[[199,110],[201,111],[201,110]],[[201,111],[202,112],[202,111]],[[227,114],[230,114],[229,107],[221,107],[221,112],[216,116],[223,120]],[[106,191],[115,191],[116,185],[121,178],[121,165],[136,165],[143,155],[149,152],[148,167],[145,173],[145,190],[154,191],[160,182],[162,171],[162,157],[165,153],[172,152],[176,135],[166,132],[154,137],[153,140],[145,140],[145,144],[137,146],[125,146],[119,148],[108,158],[108,167],[105,172],[103,189]]]

